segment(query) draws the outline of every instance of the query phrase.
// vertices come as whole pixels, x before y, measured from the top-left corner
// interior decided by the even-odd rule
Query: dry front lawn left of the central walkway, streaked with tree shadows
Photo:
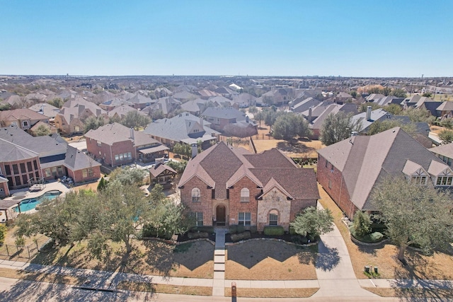
[[[214,245],[206,241],[168,245],[154,240],[134,240],[130,255],[125,255],[125,248],[120,243],[109,243],[109,253],[101,260],[89,255],[86,244],[82,241],[73,248],[64,246],[50,252],[41,252],[31,262],[40,265],[189,278],[212,278],[214,272]]]

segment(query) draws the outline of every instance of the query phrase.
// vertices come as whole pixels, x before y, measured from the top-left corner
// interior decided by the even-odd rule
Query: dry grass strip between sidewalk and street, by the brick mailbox
[[[316,288],[306,289],[237,289],[236,296],[247,298],[308,298],[313,296]],[[231,288],[225,288],[225,296],[231,297]]]

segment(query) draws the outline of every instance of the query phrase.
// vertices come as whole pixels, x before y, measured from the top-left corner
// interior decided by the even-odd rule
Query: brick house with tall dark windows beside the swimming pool
[[[32,137],[13,125],[0,128],[0,175],[8,180],[9,189],[28,187],[33,182],[55,180],[62,176],[84,174],[74,182],[95,180],[100,177],[100,164],[81,153],[69,161],[72,147],[52,137]]]

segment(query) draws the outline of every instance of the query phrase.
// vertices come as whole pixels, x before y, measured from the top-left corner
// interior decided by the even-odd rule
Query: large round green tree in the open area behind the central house
[[[292,140],[294,137],[308,137],[311,134],[309,124],[302,115],[287,113],[275,120],[273,137]]]

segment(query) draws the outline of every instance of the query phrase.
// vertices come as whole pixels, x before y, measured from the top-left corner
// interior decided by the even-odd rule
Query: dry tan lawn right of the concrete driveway
[[[351,257],[352,267],[358,279],[367,279],[363,274],[365,265],[378,267],[380,278],[383,279],[453,279],[453,257],[442,252],[425,256],[414,250],[406,251],[407,266],[403,266],[396,258],[397,248],[390,243],[382,245],[356,245],[350,240],[348,227],[341,220],[343,211],[333,202],[326,191],[319,185],[319,202],[324,208],[331,209],[336,226],[345,240]]]

